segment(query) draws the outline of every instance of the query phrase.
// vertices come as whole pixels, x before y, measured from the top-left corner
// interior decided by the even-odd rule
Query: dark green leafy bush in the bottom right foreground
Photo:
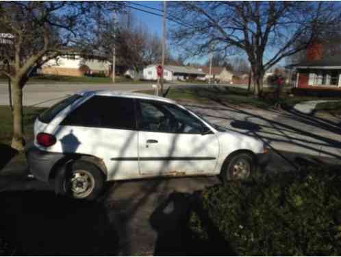
[[[214,186],[189,227],[207,241],[214,226],[237,255],[340,255],[340,185],[337,171],[310,169]]]

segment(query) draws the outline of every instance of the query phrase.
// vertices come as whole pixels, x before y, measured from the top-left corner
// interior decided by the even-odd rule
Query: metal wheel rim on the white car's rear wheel
[[[71,191],[76,198],[84,198],[90,195],[94,189],[94,177],[88,171],[77,170],[69,180]]]

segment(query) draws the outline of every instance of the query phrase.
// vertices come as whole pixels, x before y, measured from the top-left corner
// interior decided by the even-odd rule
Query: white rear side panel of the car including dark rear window
[[[103,160],[108,180],[138,178],[134,99],[96,95],[69,114],[55,133],[65,154]]]

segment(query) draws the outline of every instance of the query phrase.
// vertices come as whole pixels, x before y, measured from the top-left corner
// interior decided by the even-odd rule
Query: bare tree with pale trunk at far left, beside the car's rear
[[[25,145],[23,87],[31,71],[51,58],[76,51],[79,42],[93,37],[90,28],[98,25],[100,17],[120,6],[88,1],[0,2],[0,29],[11,35],[10,43],[0,44],[0,61],[8,60],[11,69],[0,66],[0,73],[10,77],[14,89],[12,147],[21,150]]]

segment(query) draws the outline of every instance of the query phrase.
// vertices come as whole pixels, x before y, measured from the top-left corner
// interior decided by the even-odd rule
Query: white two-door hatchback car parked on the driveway
[[[211,124],[163,97],[84,91],[34,123],[31,173],[56,193],[94,199],[108,180],[221,175],[247,178],[268,162],[262,141]]]

